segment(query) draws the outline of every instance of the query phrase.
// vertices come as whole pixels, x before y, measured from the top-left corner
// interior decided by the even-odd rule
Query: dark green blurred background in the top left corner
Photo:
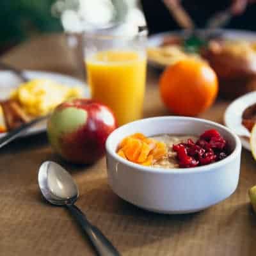
[[[40,33],[61,31],[60,19],[52,17],[55,0],[1,0],[0,54]]]

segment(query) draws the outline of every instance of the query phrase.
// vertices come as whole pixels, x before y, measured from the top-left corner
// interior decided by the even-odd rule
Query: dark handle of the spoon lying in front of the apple
[[[120,253],[107,237],[97,227],[90,224],[86,216],[76,205],[68,204],[67,208],[84,232],[86,232],[99,256],[120,256]]]

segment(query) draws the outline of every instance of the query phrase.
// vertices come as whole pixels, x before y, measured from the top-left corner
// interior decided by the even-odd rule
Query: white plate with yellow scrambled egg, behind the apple
[[[0,100],[15,100],[29,118],[47,115],[65,100],[87,97],[90,90],[82,81],[52,72],[24,71],[29,81],[23,83],[10,71],[0,71]],[[46,122],[32,127],[24,134],[36,134],[46,129]],[[0,137],[7,132],[3,108],[0,106]]]

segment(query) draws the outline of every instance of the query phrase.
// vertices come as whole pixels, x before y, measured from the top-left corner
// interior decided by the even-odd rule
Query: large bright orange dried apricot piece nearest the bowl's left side
[[[138,157],[140,156],[141,148],[142,148],[142,142],[140,140],[129,138],[124,148],[122,149],[127,159],[129,159],[132,162],[136,162]]]

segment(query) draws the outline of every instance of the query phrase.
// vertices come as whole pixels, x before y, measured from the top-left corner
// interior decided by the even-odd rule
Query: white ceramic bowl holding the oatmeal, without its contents
[[[116,154],[120,141],[135,132],[146,136],[200,135],[207,129],[217,129],[228,141],[230,156],[195,168],[163,169],[131,163]],[[123,125],[109,135],[106,152],[109,186],[116,195],[148,211],[168,214],[201,211],[234,193],[239,180],[239,138],[223,125],[203,119],[163,116]]]

